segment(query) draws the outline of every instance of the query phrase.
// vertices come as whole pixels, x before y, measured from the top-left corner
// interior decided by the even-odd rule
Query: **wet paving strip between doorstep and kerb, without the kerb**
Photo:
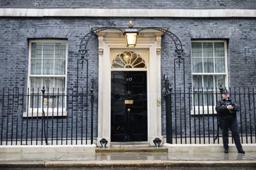
[[[73,160],[256,160],[256,152],[205,153],[1,153],[0,161]]]

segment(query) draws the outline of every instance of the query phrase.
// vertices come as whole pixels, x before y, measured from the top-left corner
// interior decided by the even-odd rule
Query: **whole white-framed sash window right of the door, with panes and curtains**
[[[215,95],[220,85],[228,88],[227,42],[191,41],[191,60],[193,106],[212,109],[220,98]]]

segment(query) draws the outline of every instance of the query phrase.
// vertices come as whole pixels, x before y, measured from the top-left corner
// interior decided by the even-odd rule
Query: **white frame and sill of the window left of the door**
[[[30,75],[30,69],[31,69],[31,50],[32,50],[32,43],[66,43],[66,66],[65,66],[65,75]],[[55,50],[55,49],[54,49]],[[54,51],[55,54],[55,51]],[[47,107],[44,108],[45,116],[67,116],[67,69],[68,69],[68,41],[67,40],[54,40],[54,39],[39,39],[39,40],[31,40],[29,41],[29,48],[28,48],[28,82],[27,82],[27,90],[30,88],[30,78],[31,77],[65,77],[65,93],[64,93],[64,101],[63,101],[63,109],[62,108],[49,108],[47,111]],[[39,89],[39,93],[41,93],[42,89]],[[29,89],[30,91],[30,89]],[[31,94],[30,92],[27,92]],[[37,93],[37,91],[34,91],[34,93]],[[54,92],[54,94],[57,94],[58,92]],[[47,89],[45,89],[45,94],[47,95]],[[62,92],[59,93],[60,97],[62,97]],[[43,99],[42,99],[43,100]],[[23,112],[23,117],[42,117],[42,108],[38,109],[37,108],[30,108],[30,99],[27,100],[28,103],[28,108],[26,112]],[[58,110],[58,112],[57,112]],[[28,112],[27,112],[28,111]],[[63,111],[63,115],[62,115]],[[32,115],[33,112],[33,115]]]

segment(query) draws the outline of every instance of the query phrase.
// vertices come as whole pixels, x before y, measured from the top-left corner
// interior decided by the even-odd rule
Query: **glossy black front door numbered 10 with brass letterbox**
[[[111,71],[111,142],[147,140],[147,72]]]

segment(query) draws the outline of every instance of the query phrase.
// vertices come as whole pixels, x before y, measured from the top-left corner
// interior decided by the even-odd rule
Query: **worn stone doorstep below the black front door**
[[[109,147],[109,148],[96,148],[96,153],[124,153],[124,152],[168,152],[166,147]]]

